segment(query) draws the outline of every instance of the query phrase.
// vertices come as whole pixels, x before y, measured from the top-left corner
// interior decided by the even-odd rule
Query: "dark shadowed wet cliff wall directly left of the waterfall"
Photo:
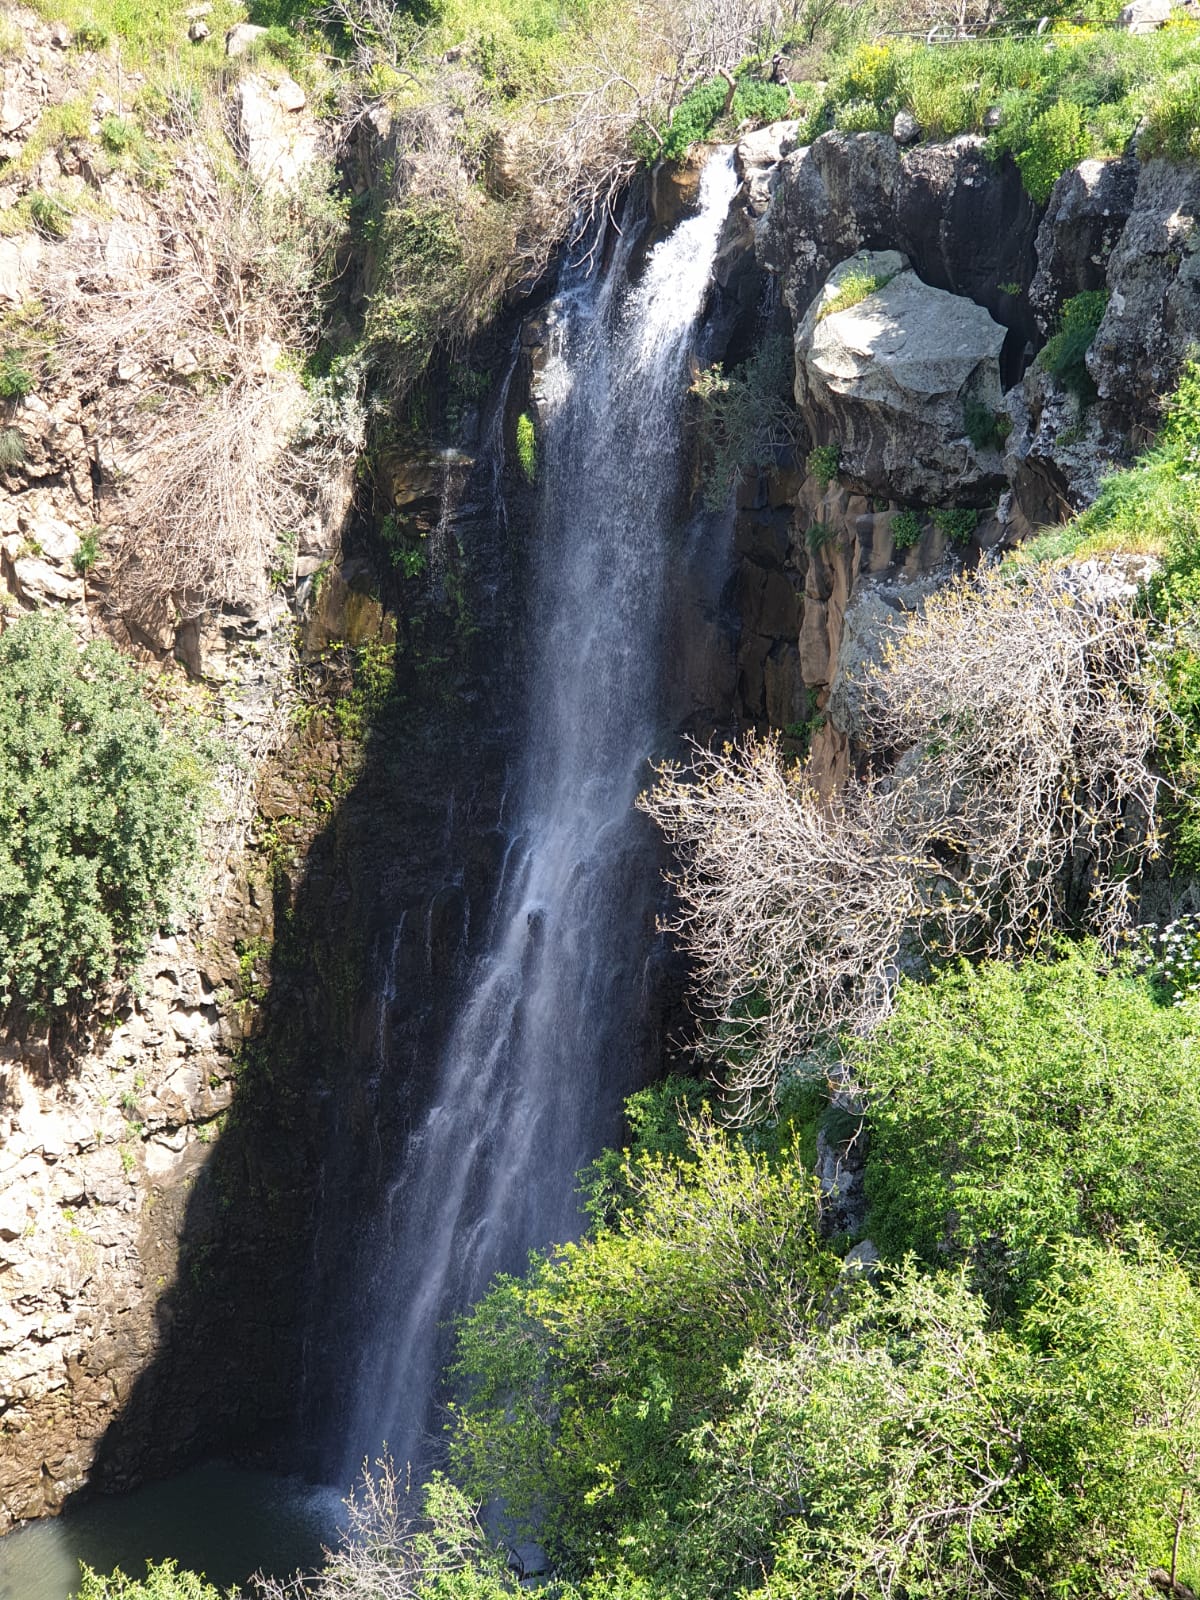
[[[261,790],[227,1008],[243,1034],[235,1094],[179,1214],[146,1206],[155,1347],[118,1397],[91,1490],[211,1453],[317,1467],[298,1416],[352,1328],[355,1218],[419,1107],[502,843],[523,530],[494,515],[491,469],[459,490],[442,571],[387,573],[386,613],[365,594],[368,562],[334,578],[362,637],[318,640],[309,672],[325,688]],[[118,1354],[112,1339],[82,1352],[77,1389],[102,1386]],[[307,1414],[302,1434],[333,1421]]]

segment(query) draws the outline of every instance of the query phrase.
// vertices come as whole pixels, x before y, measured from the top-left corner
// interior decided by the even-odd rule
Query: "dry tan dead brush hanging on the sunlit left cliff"
[[[152,259],[114,267],[106,235],[80,230],[42,290],[59,379],[90,403],[120,530],[114,598],[134,619],[261,600],[280,531],[339,456],[336,438],[314,442],[320,462],[290,446],[302,389],[278,371],[312,341],[336,266],[331,166],[274,192],[214,154],[211,130],[174,133],[190,134],[174,181],[142,198]]]

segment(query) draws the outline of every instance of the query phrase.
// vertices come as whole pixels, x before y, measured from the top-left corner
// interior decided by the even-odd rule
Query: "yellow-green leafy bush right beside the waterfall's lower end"
[[[550,1512],[581,1563],[622,1520],[669,1560],[690,1435],[722,1408],[725,1370],[814,1320],[835,1272],[811,1178],[707,1123],[685,1160],[626,1160],[619,1190],[614,1221],[502,1278],[459,1331],[464,1488],[502,1486],[518,1522]]]

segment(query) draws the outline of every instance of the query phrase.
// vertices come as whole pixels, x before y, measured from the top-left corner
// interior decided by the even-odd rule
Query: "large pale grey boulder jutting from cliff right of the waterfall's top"
[[[854,280],[880,286],[838,309]],[[1003,486],[994,448],[965,430],[968,403],[998,413],[1005,330],[958,294],[922,283],[898,251],[830,272],[795,334],[795,398],[818,442],[867,494],[986,506]]]

